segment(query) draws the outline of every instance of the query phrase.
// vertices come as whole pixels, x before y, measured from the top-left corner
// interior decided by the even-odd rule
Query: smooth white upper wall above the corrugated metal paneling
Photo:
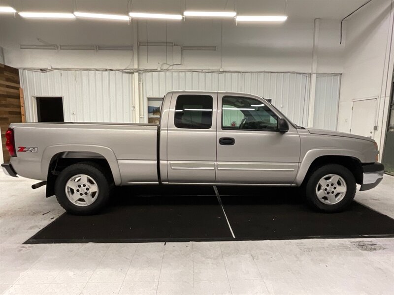
[[[318,72],[342,72],[339,21],[322,20]],[[1,14],[0,46],[6,64],[34,68],[133,68],[132,51],[21,50],[20,44],[131,45],[132,24],[101,20],[32,20]],[[313,19],[289,19],[283,24],[235,24],[233,20],[180,22],[138,21],[139,41],[217,46],[217,51],[183,51],[182,65],[172,69],[310,72]],[[221,47],[222,40],[222,47]],[[167,55],[166,55],[167,53]],[[139,68],[172,64],[172,47],[139,47]],[[167,65],[162,65],[166,69]]]

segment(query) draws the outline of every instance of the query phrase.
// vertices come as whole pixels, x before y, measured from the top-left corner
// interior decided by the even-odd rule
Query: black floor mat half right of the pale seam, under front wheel
[[[357,202],[343,212],[321,213],[304,204],[297,188],[218,190],[237,239],[394,236],[394,219]]]

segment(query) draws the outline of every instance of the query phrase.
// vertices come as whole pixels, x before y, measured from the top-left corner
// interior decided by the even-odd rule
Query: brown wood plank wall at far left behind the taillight
[[[18,69],[0,63],[0,129],[4,162],[9,161],[5,131],[10,123],[22,122],[19,89]]]

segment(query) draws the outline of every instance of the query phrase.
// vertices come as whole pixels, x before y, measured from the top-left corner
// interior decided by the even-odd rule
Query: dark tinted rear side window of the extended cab
[[[210,95],[179,95],[175,106],[175,127],[209,129],[213,98]]]

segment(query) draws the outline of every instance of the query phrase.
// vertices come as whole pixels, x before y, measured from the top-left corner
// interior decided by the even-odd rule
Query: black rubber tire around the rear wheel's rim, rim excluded
[[[71,177],[78,174],[92,177],[99,188],[96,200],[90,205],[78,206],[67,198],[66,183]],[[92,215],[105,207],[112,188],[111,177],[108,176],[108,172],[105,169],[94,162],[81,162],[68,166],[59,174],[55,182],[55,195],[59,204],[68,213],[73,215]]]

